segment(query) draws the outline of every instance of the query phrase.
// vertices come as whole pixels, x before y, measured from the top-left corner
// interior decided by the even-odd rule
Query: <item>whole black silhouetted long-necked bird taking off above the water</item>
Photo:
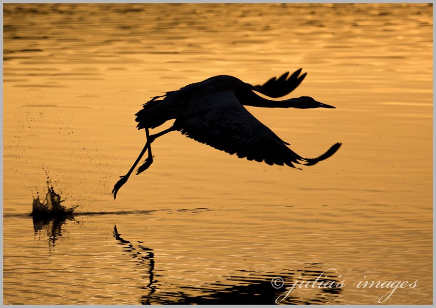
[[[301,74],[301,71],[300,68],[291,75],[286,72],[279,78],[272,77],[263,85],[255,86],[233,76],[218,75],[153,97],[135,114],[137,128],[145,130],[146,143],[129,171],[120,176],[121,179],[114,185],[114,199],[147,150],[148,157],[136,174],[150,167],[153,163],[151,144],[171,131],[179,131],[198,142],[228,154],[236,154],[239,158],[264,161],[268,165],[293,168],[296,168],[294,164],[311,166],[335,154],[342,143],[335,143],[325,154],[316,158],[304,158],[296,154],[287,147],[289,143],[280,139],[244,107],[335,108],[310,96],[270,100],[256,93],[271,98],[287,95],[306,77],[307,73]],[[170,128],[150,135],[149,129],[170,120],[174,120]]]

